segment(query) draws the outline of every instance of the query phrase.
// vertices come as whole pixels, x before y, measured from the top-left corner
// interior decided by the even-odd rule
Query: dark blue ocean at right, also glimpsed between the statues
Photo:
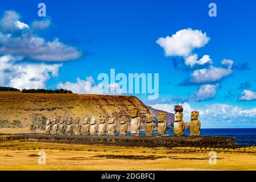
[[[154,135],[157,134],[154,132]],[[174,131],[167,131],[166,134],[174,135]],[[185,130],[185,135],[189,136],[189,130]],[[256,129],[201,129],[201,136],[232,137],[236,138],[238,146],[256,146]]]

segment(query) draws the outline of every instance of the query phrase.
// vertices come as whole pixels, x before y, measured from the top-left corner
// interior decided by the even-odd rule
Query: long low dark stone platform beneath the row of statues
[[[107,146],[131,147],[216,147],[236,148],[236,138],[228,137],[120,137],[120,136],[90,136],[90,135],[44,135],[16,134],[0,135],[1,140],[28,140],[36,142],[101,144]]]

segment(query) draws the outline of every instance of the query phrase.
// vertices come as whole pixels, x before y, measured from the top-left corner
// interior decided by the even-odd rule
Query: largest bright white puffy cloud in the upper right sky
[[[166,56],[188,57],[193,49],[205,46],[209,40],[206,33],[188,28],[177,31],[171,37],[159,38],[156,43],[164,49]]]

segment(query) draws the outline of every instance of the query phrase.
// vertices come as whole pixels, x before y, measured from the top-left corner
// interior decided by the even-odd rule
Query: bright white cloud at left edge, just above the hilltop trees
[[[62,64],[21,63],[22,57],[0,57],[0,85],[18,89],[46,88],[46,82],[57,77]]]

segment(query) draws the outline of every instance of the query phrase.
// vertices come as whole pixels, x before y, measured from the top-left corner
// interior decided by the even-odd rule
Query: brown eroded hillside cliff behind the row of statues
[[[28,127],[31,123],[45,125],[46,118],[53,117],[96,117],[114,115],[117,120],[126,116],[130,121],[133,107],[138,107],[139,117],[142,121],[142,129],[145,114],[154,114],[157,117],[158,110],[147,107],[134,96],[107,96],[107,95],[80,95],[80,94],[28,94],[20,92],[0,92],[0,122],[8,121],[9,125],[0,127],[12,127],[10,123],[19,121],[20,127]],[[150,109],[150,110],[149,110]],[[170,113],[167,113],[167,123],[170,123]],[[118,122],[117,122],[118,123]]]

